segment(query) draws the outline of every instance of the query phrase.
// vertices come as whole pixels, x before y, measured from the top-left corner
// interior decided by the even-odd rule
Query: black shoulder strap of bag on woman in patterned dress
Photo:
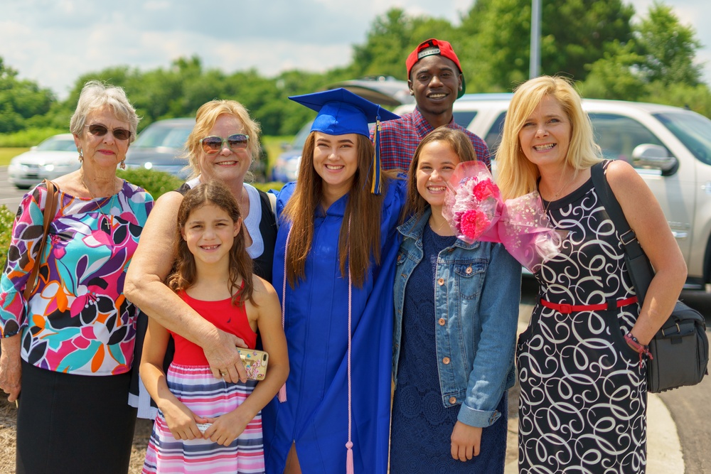
[[[610,220],[614,223],[619,234],[620,242],[627,254],[627,270],[631,274],[632,282],[641,305],[647,293],[649,283],[654,276],[654,271],[647,255],[637,240],[634,230],[629,227],[629,222],[627,222],[624,216],[619,201],[612,192],[612,188],[610,188],[610,183],[608,183],[607,176],[605,175],[606,163],[609,163],[609,161],[601,161],[590,168],[592,185],[595,188],[600,203],[605,208],[607,215],[609,215]]]

